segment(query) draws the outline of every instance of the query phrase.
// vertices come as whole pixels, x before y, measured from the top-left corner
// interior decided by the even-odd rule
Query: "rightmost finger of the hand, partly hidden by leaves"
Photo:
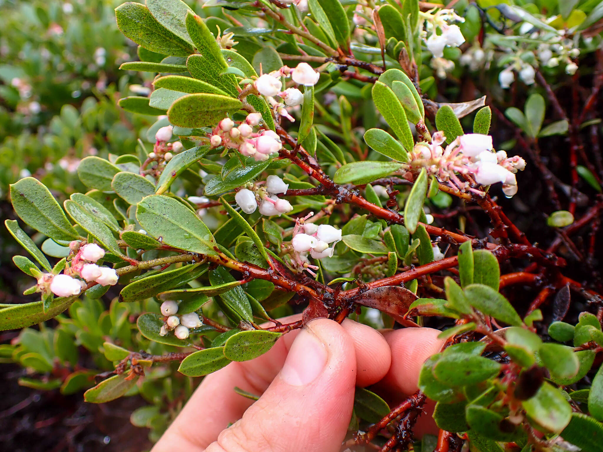
[[[418,376],[423,363],[432,354],[438,353],[444,341],[438,339],[441,331],[432,328],[402,328],[384,331],[385,340],[391,348],[390,370],[383,380],[373,387],[390,406],[396,406],[417,391]],[[414,433],[418,438],[425,433],[437,434],[438,428],[432,418],[435,402],[428,400],[424,413],[417,419]]]

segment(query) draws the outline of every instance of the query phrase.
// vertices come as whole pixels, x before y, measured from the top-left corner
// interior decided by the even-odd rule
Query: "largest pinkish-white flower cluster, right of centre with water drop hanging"
[[[501,182],[502,191],[509,197],[517,193],[515,174],[525,169],[521,157],[507,157],[505,151],[494,152],[492,137],[488,135],[461,135],[446,149],[441,146],[444,140],[444,133],[439,131],[434,134],[431,144],[417,143],[412,151],[411,167],[426,168],[440,182],[462,191],[482,194],[481,190],[470,187],[469,182],[461,181],[457,174],[471,174],[476,183],[484,186]]]

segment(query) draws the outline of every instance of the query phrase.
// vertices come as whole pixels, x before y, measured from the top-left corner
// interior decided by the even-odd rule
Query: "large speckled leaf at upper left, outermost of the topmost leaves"
[[[193,52],[188,42],[162,27],[144,5],[124,3],[115,8],[115,16],[121,33],[151,52],[175,57]]]

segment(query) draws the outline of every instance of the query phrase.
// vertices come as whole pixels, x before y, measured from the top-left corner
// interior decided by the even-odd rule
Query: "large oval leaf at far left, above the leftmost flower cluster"
[[[19,218],[45,236],[56,240],[79,238],[56,199],[44,184],[33,177],[11,184],[10,200]]]

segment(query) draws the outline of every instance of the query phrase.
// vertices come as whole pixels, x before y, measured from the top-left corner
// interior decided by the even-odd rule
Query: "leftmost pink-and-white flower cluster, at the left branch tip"
[[[118,275],[113,268],[96,265],[99,259],[103,259],[105,251],[95,243],[87,243],[80,247],[80,242],[74,240],[69,244],[75,256],[63,274],[43,274],[38,278],[38,288],[42,292],[54,293],[58,297],[71,297],[78,295],[81,289],[87,286],[85,281],[94,281],[101,286],[114,286],[117,284]],[[75,277],[79,277],[77,279]]]

